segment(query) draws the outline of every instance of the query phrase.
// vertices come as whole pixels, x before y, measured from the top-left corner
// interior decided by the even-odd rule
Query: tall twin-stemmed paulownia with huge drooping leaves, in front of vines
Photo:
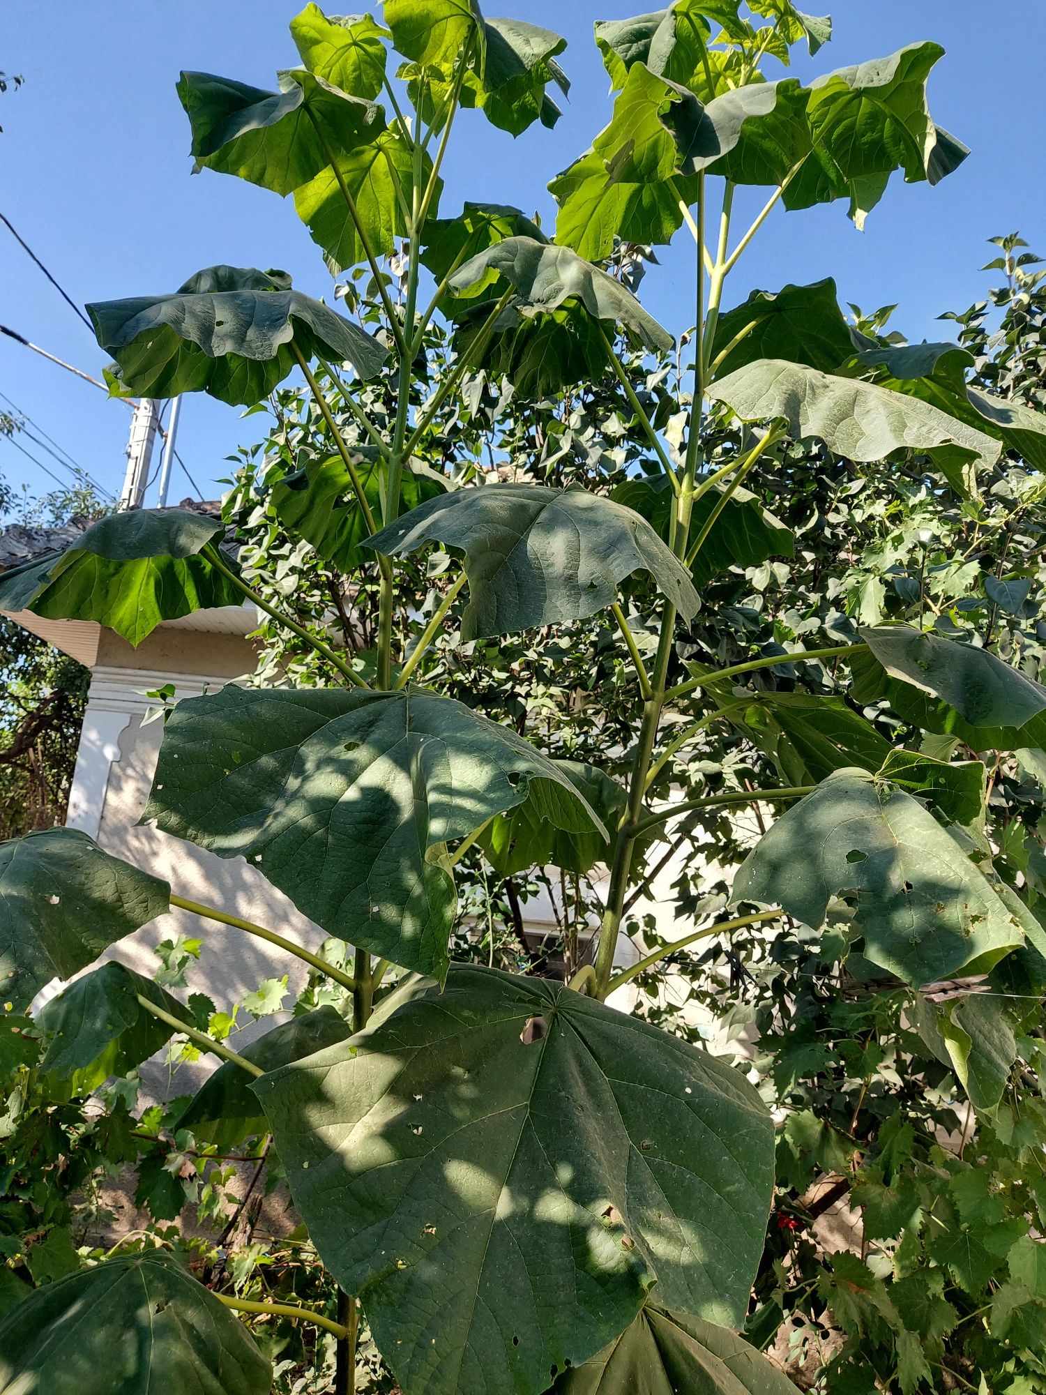
[[[605,1002],[664,953],[618,968],[637,850],[678,813],[785,810],[735,887],[735,901],[759,908],[689,939],[768,928],[785,912],[817,928],[842,905],[851,944],[911,988],[1046,949],[1038,921],[994,877],[990,850],[950,831],[950,810],[962,822],[969,798],[986,798],[983,778],[973,790],[968,770],[918,742],[891,749],[845,703],[826,698],[812,718],[828,734],[817,778],[682,802],[669,781],[661,798],[658,780],[697,731],[739,713],[760,730],[745,684],[781,664],[777,651],[718,668],[688,657],[695,578],[722,557],[728,530],[755,520],[766,557],[785,550],[742,491],[759,462],[809,441],[840,470],[929,460],[978,509],[1003,445],[1042,435],[1033,413],[968,391],[943,353],[884,357],[817,287],[725,311],[729,273],[778,202],[847,198],[861,225],[893,174],[936,183],[967,153],[929,114],[936,45],[810,85],[766,81],[766,59],[787,63],[799,42],[816,52],[830,24],[791,0],[748,8],[676,0],[597,25],[614,112],[551,184],[554,240],[516,209],[437,216],[463,109],[512,134],[555,121],[548,88],[566,86],[563,40],[548,31],[485,20],[462,0],[386,0],[382,24],[310,4],[291,24],[303,66],[276,91],[183,74],[198,166],[293,194],[335,273],[365,264],[384,317],[349,319],[282,272],[212,266],[173,294],[89,307],[114,359],[113,391],[205,391],[252,406],[300,371],[332,452],[303,462],[285,519],[332,565],[374,558],[374,643],[342,647],[282,614],[251,586],[223,525],[177,509],[105,519],[0,582],[4,608],[91,618],[132,643],[163,619],[250,597],[338,675],[325,688],[230,686],[179,703],[144,817],[250,859],[354,946],[351,972],[56,830],[0,848],[0,974],[11,1010],[24,1011],[53,975],[77,974],[179,907],[261,935],[351,992],[350,1035],[336,1014],[301,1018],[264,1038],[254,1059],[119,964],[78,979],[42,1020],[57,1074],[134,1064],[176,1031],[237,1073],[211,1088],[219,1101],[238,1092],[238,1117],[257,1099],[343,1293],[335,1318],[311,1314],[339,1339],[339,1391],[351,1387],[360,1307],[407,1395],[789,1388],[734,1335],[773,1189],[768,1109],[739,1070]],[[399,86],[391,52],[403,60]],[[734,193],[749,184],[768,199],[736,236]],[[622,364],[672,339],[600,264],[622,241],[662,244],[683,227],[696,248],[696,328],[674,445]],[[393,254],[402,294],[382,271]],[[453,326],[455,360],[418,400],[434,317]],[[395,384],[375,403],[368,384],[388,364]],[[616,381],[650,472],[611,497],[421,467],[445,403],[477,371],[536,398],[593,375]],[[364,444],[346,439],[332,396]],[[453,559],[437,604],[417,594],[417,565],[403,565],[430,545]],[[466,590],[469,643],[611,611],[635,670],[623,788],[427,682],[432,640]],[[403,610],[423,622],[404,622]],[[654,636],[646,657],[640,622]],[[1046,688],[985,647],[894,624],[788,657],[856,665],[866,692],[916,728],[961,732],[976,751],[1045,744]],[[594,961],[569,983],[450,963],[455,861],[477,843],[503,857],[526,829],[556,833],[534,840],[541,861],[608,868]],[[932,1009],[944,1043],[958,1039],[953,1007]],[[213,1098],[195,1102],[197,1126],[222,1122]],[[226,1311],[237,1306],[163,1257],[106,1261],[36,1290],[0,1325],[0,1388],[266,1391],[268,1363]]]

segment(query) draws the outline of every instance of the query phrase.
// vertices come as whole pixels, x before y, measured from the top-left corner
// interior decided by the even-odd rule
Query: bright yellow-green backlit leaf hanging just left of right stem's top
[[[688,155],[699,131],[702,149],[715,151],[696,98],[636,63],[609,126],[548,186],[559,204],[556,240],[590,261],[608,257],[615,236],[671,241],[683,220],[681,197],[688,204],[697,197]]]

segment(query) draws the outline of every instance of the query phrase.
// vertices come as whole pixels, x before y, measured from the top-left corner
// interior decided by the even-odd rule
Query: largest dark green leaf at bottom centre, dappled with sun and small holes
[[[530,1042],[531,1045],[526,1045]],[[661,1302],[738,1322],[773,1127],[708,1053],[453,965],[255,1085],[324,1262],[407,1395],[537,1395]]]

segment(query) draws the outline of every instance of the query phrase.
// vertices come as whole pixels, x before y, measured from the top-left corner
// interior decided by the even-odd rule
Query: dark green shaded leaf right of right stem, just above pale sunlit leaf
[[[834,372],[852,352],[831,276],[777,293],[753,290],[743,306],[720,317],[711,346],[713,361],[724,356],[715,370],[721,375],[755,359],[784,359]]]

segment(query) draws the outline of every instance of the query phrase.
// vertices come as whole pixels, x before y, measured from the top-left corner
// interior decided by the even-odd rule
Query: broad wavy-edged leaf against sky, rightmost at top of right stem
[[[849,198],[858,226],[901,169],[936,184],[969,153],[934,126],[926,80],[944,50],[914,43],[803,88],[794,78],[727,92],[706,109],[722,155],[703,160],[736,184],[785,186],[785,208]]]

